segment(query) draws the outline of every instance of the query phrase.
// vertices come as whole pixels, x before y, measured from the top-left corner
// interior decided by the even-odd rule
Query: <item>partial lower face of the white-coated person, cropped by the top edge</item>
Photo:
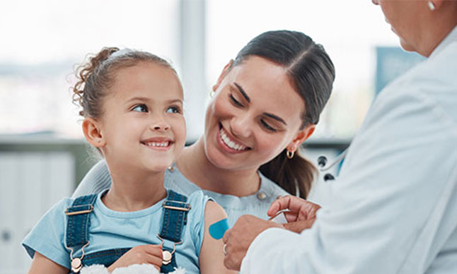
[[[420,15],[427,12],[426,1],[405,0],[371,0],[381,6],[391,29],[400,38],[403,49],[417,52],[418,45],[422,43]]]

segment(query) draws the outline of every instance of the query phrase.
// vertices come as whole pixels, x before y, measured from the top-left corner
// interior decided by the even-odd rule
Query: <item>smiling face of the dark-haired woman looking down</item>
[[[297,148],[314,126],[300,130],[304,102],[284,67],[258,56],[228,69],[207,108],[207,158],[223,169],[258,169],[284,148]]]

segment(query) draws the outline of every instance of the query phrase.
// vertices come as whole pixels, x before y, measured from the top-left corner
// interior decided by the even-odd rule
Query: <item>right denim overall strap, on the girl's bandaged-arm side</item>
[[[190,204],[186,203],[187,197],[168,191],[168,197],[163,202],[163,220],[161,234],[162,239],[168,239],[172,242],[180,242],[183,227],[187,224],[187,213],[190,210]]]

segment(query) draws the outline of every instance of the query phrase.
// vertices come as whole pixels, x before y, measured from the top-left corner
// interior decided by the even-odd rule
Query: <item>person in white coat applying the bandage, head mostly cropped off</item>
[[[429,57],[376,98],[330,203],[294,197],[300,234],[245,215],[224,235],[241,273],[457,273],[457,1],[373,0],[407,51]],[[315,222],[314,219],[316,219]]]

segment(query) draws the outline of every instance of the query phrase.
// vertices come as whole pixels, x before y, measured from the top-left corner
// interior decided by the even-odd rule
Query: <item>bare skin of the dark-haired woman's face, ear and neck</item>
[[[284,148],[295,151],[311,136],[314,125],[300,129],[304,102],[284,67],[258,56],[250,56],[232,68],[231,64],[226,65],[213,87],[204,135],[185,148],[177,166],[202,189],[248,196],[260,187],[260,165]],[[245,149],[227,148],[221,141],[221,128]]]

